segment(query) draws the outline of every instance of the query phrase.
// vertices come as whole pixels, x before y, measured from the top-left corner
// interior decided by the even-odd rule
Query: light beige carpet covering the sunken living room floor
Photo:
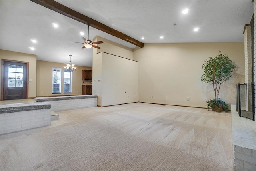
[[[132,103],[0,136],[1,171],[231,171],[231,113]]]

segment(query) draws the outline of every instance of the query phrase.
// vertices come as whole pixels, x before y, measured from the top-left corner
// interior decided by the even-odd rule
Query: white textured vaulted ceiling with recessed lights
[[[244,25],[250,23],[253,14],[251,0],[56,1],[143,43],[243,42]],[[182,14],[185,8],[188,14]],[[198,32],[193,31],[195,27],[200,28]],[[85,24],[29,0],[0,0],[0,49],[64,64],[72,54],[73,64],[92,67],[92,48],[81,49],[82,44],[70,43],[82,42],[79,32],[87,38],[87,30]],[[136,47],[90,27],[89,39],[97,35]],[[28,48],[32,46],[35,50]]]

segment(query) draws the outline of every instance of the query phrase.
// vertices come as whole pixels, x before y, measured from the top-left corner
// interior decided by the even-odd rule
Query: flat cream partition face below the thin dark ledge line
[[[102,106],[138,102],[138,62],[102,53]]]

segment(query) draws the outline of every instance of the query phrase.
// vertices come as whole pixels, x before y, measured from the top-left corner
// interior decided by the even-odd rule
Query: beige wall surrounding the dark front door
[[[36,55],[0,50],[0,58],[1,61],[2,59],[6,59],[29,62],[28,77],[32,79],[32,81],[28,82],[28,98],[36,97]],[[0,71],[2,73],[2,65],[0,65]],[[1,75],[2,74],[0,74],[0,80],[2,80]]]

